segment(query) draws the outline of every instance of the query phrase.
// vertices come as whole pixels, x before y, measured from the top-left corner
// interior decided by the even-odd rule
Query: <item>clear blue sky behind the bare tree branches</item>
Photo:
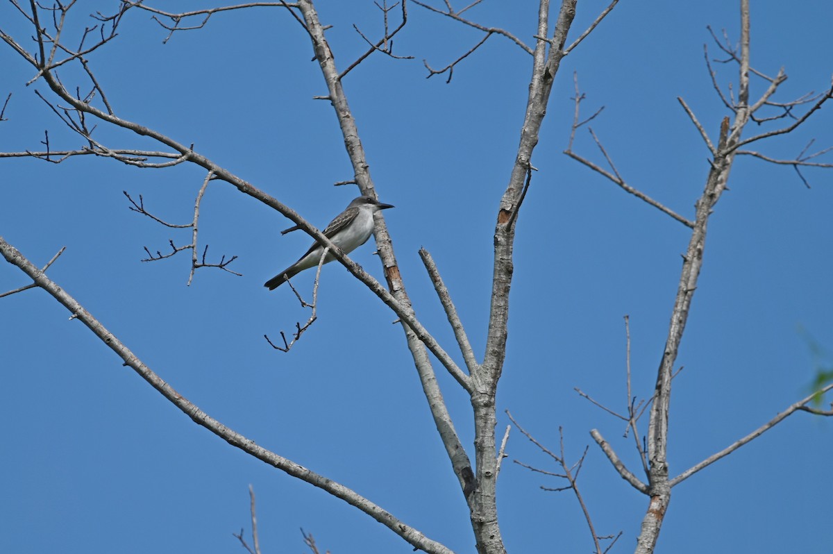
[[[79,2],[72,37],[87,13],[117,2]],[[435,2],[437,3],[437,2]],[[580,2],[575,37],[606,2]],[[356,23],[376,36],[372,2],[317,2],[339,67],[365,49]],[[194,9],[194,2],[165,8]],[[202,4],[200,4],[202,7]],[[786,67],[781,100],[830,86],[828,2],[786,8],[753,2],[752,63]],[[578,397],[579,387],[624,409],[625,330],[631,321],[634,392],[649,397],[664,345],[687,229],[562,154],[570,132],[573,72],[582,108],[634,187],[691,217],[708,171],[708,151],[681,110],[683,97],[712,137],[726,115],[703,62],[706,25],[738,37],[735,2],[621,2],[561,65],[533,164],[539,168],[521,211],[504,409],[541,442],[566,454],[591,444],[579,482],[601,534],[622,531],[612,552],[630,552],[646,498],[618,477],[588,432],[598,428],[632,470],[637,458],[621,422]],[[536,2],[486,0],[470,17],[531,42]],[[0,7],[0,25],[21,41],[31,30]],[[356,196],[332,187],[352,177],[312,49],[278,9],[225,13],[200,31],[166,32],[130,12],[119,37],[91,57],[116,112],[167,133],[322,227]],[[456,68],[425,78],[422,59],[442,67],[480,39],[477,32],[412,6],[392,60],[376,55],[344,86],[367,149],[416,313],[452,347],[452,334],[417,256],[426,247],[451,291],[481,357],[485,345],[496,209],[514,159],[531,57],[501,37]],[[77,38],[69,40],[76,42]],[[0,151],[81,146],[29,87],[27,67],[0,48]],[[716,64],[726,86],[735,67]],[[65,82],[82,82],[74,70]],[[85,85],[86,86],[86,85]],[[753,81],[753,97],[763,91]],[[794,136],[764,142],[793,157],[811,138],[833,144],[829,107]],[[753,128],[750,127],[750,132]],[[149,148],[142,137],[99,126],[110,147]],[[587,135],[576,152],[602,162]],[[828,156],[827,161],[830,161]],[[739,158],[716,207],[678,364],[671,402],[671,474],[721,450],[806,396],[819,362],[811,341],[833,349],[833,172]],[[209,259],[238,258],[235,277],[197,271],[189,257],[142,263],[189,232],[127,209],[122,191],[148,210],[187,223],[204,174],[197,168],[124,167],[89,157],[60,165],[2,160],[0,235],[42,265],[66,246],[49,275],[138,357],[203,410],[263,447],[352,487],[456,552],[474,552],[456,478],[431,423],[395,317],[342,267],[324,269],[318,321],[289,354],[277,337],[307,312],[292,292],[262,282],[297,259],[309,237],[281,236],[291,223],[225,183],[202,204]],[[352,255],[382,279],[372,244]],[[295,280],[312,284],[312,275]],[[0,266],[0,292],[22,286]],[[232,537],[248,528],[247,486],[257,493],[263,552],[303,552],[299,527],[322,548],[410,552],[401,539],[347,504],[247,457],[165,402],[46,293],[0,299],[5,384],[0,417],[0,552],[243,552]],[[801,331],[804,329],[805,331]],[[812,337],[812,339],[810,338]],[[830,364],[830,357],[821,363]],[[466,447],[466,396],[438,368]],[[643,428],[645,425],[643,424]],[[657,552],[829,552],[831,422],[798,413],[731,457],[674,489]],[[514,430],[498,482],[511,552],[591,552],[575,499],[511,463],[557,471]]]

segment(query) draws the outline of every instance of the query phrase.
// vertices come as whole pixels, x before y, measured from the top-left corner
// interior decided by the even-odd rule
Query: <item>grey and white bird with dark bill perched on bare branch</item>
[[[350,202],[350,205],[347,206],[344,212],[338,214],[327,225],[324,229],[324,236],[329,238],[337,247],[341,248],[345,254],[352,252],[370,238],[373,232],[373,214],[388,207],[393,206],[390,204],[382,204],[382,202],[371,197],[355,198]],[[287,232],[294,231],[296,228],[291,227],[287,229]],[[310,267],[317,267],[318,262],[321,261],[322,252],[324,252],[324,247],[316,242],[300,260],[263,283],[263,286],[268,287],[272,291],[280,287],[287,279],[295,277],[297,273]],[[335,259],[336,257],[332,255],[331,249],[331,252],[327,252],[324,263],[332,262]]]

